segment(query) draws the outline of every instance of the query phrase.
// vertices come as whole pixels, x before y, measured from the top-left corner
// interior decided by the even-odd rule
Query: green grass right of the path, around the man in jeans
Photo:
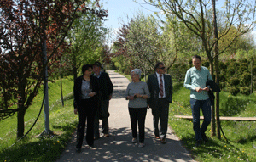
[[[175,131],[177,137],[183,141],[195,160],[198,161],[255,161],[256,160],[256,131],[254,121],[221,121],[224,131],[219,140],[211,137],[211,126],[208,126],[207,137],[210,142],[204,143],[199,148],[195,145],[195,134],[192,120],[175,118],[174,115],[191,115],[189,105],[189,90],[183,87],[183,83],[173,85],[173,103],[170,106],[169,126]],[[220,115],[221,116],[255,116],[255,95],[236,97],[228,92],[220,92]]]

